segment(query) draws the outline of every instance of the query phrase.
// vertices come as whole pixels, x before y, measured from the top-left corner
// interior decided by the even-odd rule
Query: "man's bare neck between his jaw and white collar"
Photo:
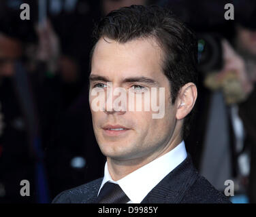
[[[119,160],[107,157],[108,172],[114,181],[131,174],[131,172],[138,170],[147,163],[154,161],[155,159],[165,155],[172,151],[182,141],[180,136],[177,136],[174,140],[168,142],[163,149],[156,151],[153,155],[147,155],[146,157],[140,157],[138,159]]]

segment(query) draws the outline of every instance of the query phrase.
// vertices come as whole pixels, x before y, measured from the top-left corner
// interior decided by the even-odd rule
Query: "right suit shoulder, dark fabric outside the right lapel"
[[[187,190],[182,203],[231,203],[228,197],[204,178],[199,176],[194,184]]]

